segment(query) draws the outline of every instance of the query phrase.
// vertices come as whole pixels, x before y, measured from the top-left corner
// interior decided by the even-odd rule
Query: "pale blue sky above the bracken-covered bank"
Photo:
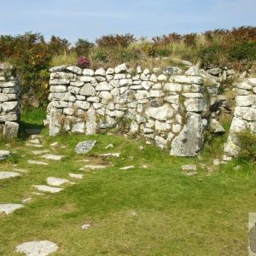
[[[255,10],[256,0],[0,0],[0,34],[41,32],[72,43],[126,32],[152,38],[256,26]]]

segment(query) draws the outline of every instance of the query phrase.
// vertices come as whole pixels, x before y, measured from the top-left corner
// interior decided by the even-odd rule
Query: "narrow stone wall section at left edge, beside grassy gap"
[[[20,83],[12,67],[0,64],[0,133],[17,137],[20,119]]]

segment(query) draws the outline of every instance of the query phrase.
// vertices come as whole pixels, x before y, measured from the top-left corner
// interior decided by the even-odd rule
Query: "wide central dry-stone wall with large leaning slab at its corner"
[[[210,107],[219,84],[204,80],[196,67],[177,67],[150,73],[126,64],[96,71],[52,67],[48,106],[49,135],[61,130],[95,134],[109,129],[142,135],[148,143],[171,148],[171,154],[193,156],[203,145]],[[204,90],[205,89],[205,90]]]

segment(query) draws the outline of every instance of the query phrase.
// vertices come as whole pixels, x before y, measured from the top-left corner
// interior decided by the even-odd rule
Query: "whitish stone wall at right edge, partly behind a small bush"
[[[256,79],[246,79],[236,88],[236,108],[230,126],[230,134],[224,145],[224,160],[239,153],[236,132],[248,129],[256,133]]]

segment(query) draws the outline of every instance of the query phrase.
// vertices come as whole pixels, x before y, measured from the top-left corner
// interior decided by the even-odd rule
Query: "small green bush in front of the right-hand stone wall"
[[[249,130],[236,132],[237,145],[240,148],[238,157],[256,161],[256,134]]]

